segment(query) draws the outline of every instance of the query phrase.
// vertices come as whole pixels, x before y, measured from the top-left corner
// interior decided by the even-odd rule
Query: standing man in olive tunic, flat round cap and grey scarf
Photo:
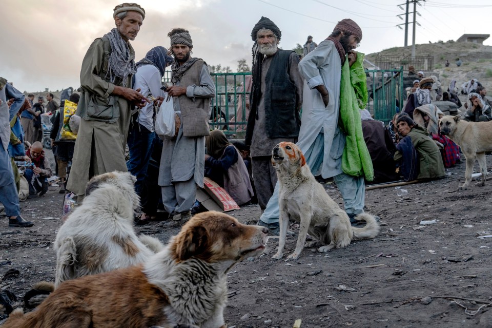
[[[135,40],[145,10],[124,3],[114,8],[113,18],[116,27],[94,40],[80,71],[82,92],[76,113],[81,119],[67,184],[77,195],[84,194],[93,176],[128,170],[125,146],[130,110],[149,102],[140,90],[131,88],[136,67],[129,41]]]

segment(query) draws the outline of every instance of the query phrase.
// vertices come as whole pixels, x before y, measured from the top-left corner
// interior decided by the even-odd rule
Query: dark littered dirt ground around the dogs
[[[489,167],[491,161],[487,156]],[[288,262],[271,259],[278,239],[269,239],[265,254],[229,273],[228,327],[292,327],[296,319],[302,328],[492,327],[491,307],[483,306],[492,305],[492,238],[478,238],[492,234],[492,182],[457,192],[464,169],[458,164],[444,179],[402,186],[404,197],[395,187],[367,190],[366,211],[383,225],[375,239],[326,254],[304,249]],[[325,189],[342,205],[333,183]],[[33,283],[54,281],[62,202],[50,187],[45,197],[21,203],[32,228],[0,225],[0,277],[9,269],[20,272],[0,282],[2,291],[22,299]],[[254,223],[260,210],[250,205],[230,214]],[[160,225],[135,229],[164,242],[178,232]],[[296,238],[288,239],[286,254]]]

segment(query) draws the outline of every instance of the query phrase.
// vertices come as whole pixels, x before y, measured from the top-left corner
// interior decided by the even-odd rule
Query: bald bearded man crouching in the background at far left
[[[53,175],[50,162],[45,156],[43,145],[36,141],[26,151],[26,162],[32,162],[34,167],[24,171],[24,177],[29,183],[29,197],[43,196],[48,191],[48,179]]]

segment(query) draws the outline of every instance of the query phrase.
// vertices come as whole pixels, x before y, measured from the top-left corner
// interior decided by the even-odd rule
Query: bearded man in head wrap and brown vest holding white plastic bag
[[[166,91],[172,97],[181,124],[176,137],[163,141],[158,183],[162,187],[162,203],[170,214],[163,227],[178,227],[191,219],[196,186],[203,187],[205,136],[210,134],[209,107],[215,85],[207,64],[191,57],[190,33],[175,28],[168,36],[171,38],[169,54],[174,55],[174,61],[173,86]]]

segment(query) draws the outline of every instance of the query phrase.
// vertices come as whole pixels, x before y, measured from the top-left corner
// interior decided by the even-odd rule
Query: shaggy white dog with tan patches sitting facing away
[[[142,263],[163,248],[156,238],[137,237],[133,230],[139,206],[135,181],[129,172],[117,171],[89,181],[84,202],[56,235],[56,287],[65,280]]]

